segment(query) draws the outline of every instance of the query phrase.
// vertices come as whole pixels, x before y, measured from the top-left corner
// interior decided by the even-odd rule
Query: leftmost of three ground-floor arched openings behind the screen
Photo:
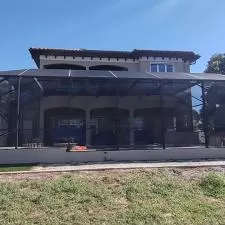
[[[85,111],[67,107],[47,109],[44,112],[44,128],[46,146],[68,141],[84,145],[86,142]]]

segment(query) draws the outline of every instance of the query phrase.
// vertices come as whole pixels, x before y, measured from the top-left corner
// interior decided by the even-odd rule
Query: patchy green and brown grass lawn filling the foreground
[[[0,183],[0,224],[225,224],[224,172],[68,173]]]

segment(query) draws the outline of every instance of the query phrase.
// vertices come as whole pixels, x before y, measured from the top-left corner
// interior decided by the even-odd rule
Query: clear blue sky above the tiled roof
[[[225,52],[225,0],[1,0],[0,70],[35,68],[28,48],[190,50],[202,72]]]

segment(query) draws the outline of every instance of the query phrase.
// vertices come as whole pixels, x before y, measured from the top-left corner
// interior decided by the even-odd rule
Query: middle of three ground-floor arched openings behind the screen
[[[97,108],[91,111],[91,142],[94,146],[129,144],[129,110]]]

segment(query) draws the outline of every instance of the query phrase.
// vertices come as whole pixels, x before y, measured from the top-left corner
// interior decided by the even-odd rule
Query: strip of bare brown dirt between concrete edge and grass
[[[112,169],[101,171],[74,171],[74,172],[40,172],[40,173],[19,173],[19,174],[0,174],[0,182],[14,182],[23,180],[53,180],[63,175],[76,174],[80,176],[95,177],[96,180],[109,182],[108,177],[114,177],[114,182],[117,183],[117,178],[127,173],[146,173],[149,176],[157,173],[168,173],[172,176],[182,176],[184,179],[195,180],[200,177],[212,173],[225,173],[225,167],[195,167],[195,168],[146,168],[146,169]]]

